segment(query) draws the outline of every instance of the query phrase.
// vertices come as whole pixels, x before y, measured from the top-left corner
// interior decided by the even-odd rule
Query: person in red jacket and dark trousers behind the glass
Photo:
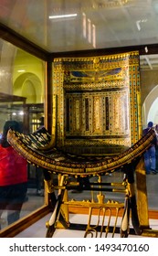
[[[8,144],[9,129],[22,132],[20,123],[7,121],[0,143],[0,218],[7,210],[8,225],[19,219],[27,190],[26,160]]]

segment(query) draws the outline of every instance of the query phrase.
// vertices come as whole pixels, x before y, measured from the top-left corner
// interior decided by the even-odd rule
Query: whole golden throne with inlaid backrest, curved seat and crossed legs
[[[139,79],[138,52],[54,59],[52,133],[45,128],[28,135],[9,131],[8,141],[16,151],[44,168],[52,209],[47,237],[57,228],[70,228],[70,207],[89,209],[84,237],[108,237],[109,233],[114,237],[118,229],[121,237],[128,237],[130,219],[134,233],[158,236],[149,225],[143,165],[143,153],[155,133],[151,130],[142,137]],[[121,182],[102,181],[119,171]],[[58,175],[58,184],[52,174]],[[89,183],[91,176],[97,176],[97,182]],[[90,190],[92,197],[69,200],[72,189]],[[94,191],[98,191],[97,201]],[[123,203],[105,202],[107,192],[123,194]],[[91,223],[94,212],[98,216],[95,225]]]

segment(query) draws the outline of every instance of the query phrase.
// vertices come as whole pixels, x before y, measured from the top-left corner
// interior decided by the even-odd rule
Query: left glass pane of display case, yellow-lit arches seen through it
[[[0,54],[0,229],[4,229],[45,203],[42,170],[27,164],[6,141],[9,128],[33,133],[44,125],[45,62],[2,39]]]

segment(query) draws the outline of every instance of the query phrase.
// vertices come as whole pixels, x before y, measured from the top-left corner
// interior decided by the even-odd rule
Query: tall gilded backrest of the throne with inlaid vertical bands
[[[140,137],[138,52],[55,59],[53,95],[57,145],[66,151],[117,154]]]

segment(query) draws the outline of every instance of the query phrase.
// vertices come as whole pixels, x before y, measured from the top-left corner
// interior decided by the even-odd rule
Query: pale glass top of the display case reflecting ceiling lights
[[[157,44],[158,0],[0,0],[0,23],[51,53]]]

